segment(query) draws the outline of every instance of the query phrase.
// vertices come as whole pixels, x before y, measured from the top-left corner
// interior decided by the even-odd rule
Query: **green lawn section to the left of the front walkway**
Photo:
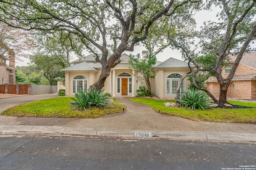
[[[114,101],[114,105],[107,108],[86,109],[87,111],[73,110],[70,106],[70,97],[57,97],[38,100],[27,104],[12,107],[3,111],[2,115],[27,117],[69,117],[69,118],[97,118],[114,113],[120,113],[125,105]]]

